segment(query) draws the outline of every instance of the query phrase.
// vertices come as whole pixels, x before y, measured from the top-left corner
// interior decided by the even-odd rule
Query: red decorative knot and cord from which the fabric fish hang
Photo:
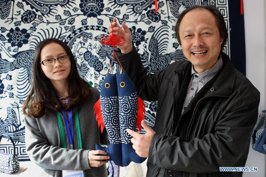
[[[111,23],[111,27],[112,27],[112,23]],[[106,38],[102,39],[103,37],[106,37]],[[118,46],[122,46],[122,45],[124,45],[124,43],[126,42],[126,40],[124,39],[124,37],[117,37],[116,35],[114,35],[114,34],[113,34],[113,27],[112,27],[112,33],[111,33],[111,35],[109,35],[109,36],[102,36],[102,37],[100,38],[100,42],[101,42],[103,45],[111,45],[111,47],[113,47],[113,58],[114,58],[114,55],[116,55],[114,48],[115,48],[117,45],[118,45]],[[110,64],[110,67],[109,67],[108,73],[110,72],[110,68],[111,68],[111,65],[112,65],[112,63],[113,63],[113,58],[112,58],[112,60],[111,60],[111,64]],[[120,61],[119,61],[117,55],[116,55],[116,58],[117,58],[117,60],[118,60],[118,62],[119,62],[119,64],[120,64],[120,66],[121,66],[121,68],[122,68],[122,70],[123,70],[123,72],[124,72],[124,68],[122,67],[122,65],[121,65],[121,63],[120,63]]]

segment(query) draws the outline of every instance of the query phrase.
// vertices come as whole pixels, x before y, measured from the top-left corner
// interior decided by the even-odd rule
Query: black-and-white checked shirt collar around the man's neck
[[[222,60],[222,56],[220,55],[219,60],[215,63],[215,65],[213,65],[213,67],[211,67],[210,69],[202,72],[202,73],[196,73],[192,64],[191,67],[191,75],[196,76],[197,78],[199,78],[200,80],[202,80],[203,82],[208,82],[208,78],[210,78],[210,76],[214,76],[216,73],[218,73],[218,71],[220,70],[220,68],[222,68],[223,66],[223,60]]]

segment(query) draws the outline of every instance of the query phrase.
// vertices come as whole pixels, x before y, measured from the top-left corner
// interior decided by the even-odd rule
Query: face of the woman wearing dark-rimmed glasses
[[[60,44],[51,42],[43,47],[40,52],[40,62],[46,59],[59,58],[61,56],[68,55],[67,51]],[[52,59],[53,60],[53,59]],[[48,77],[52,83],[58,81],[66,81],[67,76],[71,70],[71,61],[67,60],[64,63],[60,63],[58,60],[51,65],[41,65],[42,72]]]

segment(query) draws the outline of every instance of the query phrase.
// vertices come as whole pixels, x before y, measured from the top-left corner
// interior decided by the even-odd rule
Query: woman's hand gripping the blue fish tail
[[[98,155],[102,154],[102,155]],[[99,167],[108,161],[102,161],[109,159],[109,156],[105,156],[107,153],[103,150],[90,150],[88,153],[89,165],[90,167]]]

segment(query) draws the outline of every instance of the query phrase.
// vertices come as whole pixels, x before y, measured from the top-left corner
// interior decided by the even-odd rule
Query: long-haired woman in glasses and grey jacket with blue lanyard
[[[70,170],[86,177],[107,176],[107,161],[102,160],[109,157],[93,150],[95,143],[108,140],[94,115],[98,99],[99,91],[80,78],[64,42],[49,38],[38,44],[33,85],[23,105],[26,150],[45,172],[36,176],[66,176]]]

